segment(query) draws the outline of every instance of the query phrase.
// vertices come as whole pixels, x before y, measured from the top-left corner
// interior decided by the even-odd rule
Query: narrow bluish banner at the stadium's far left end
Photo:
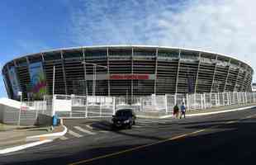
[[[16,70],[14,67],[11,67],[8,69],[8,75],[9,75],[9,79],[12,85],[12,92],[13,92],[13,97],[14,98],[18,98],[18,92],[21,90],[20,86],[19,86],[19,82],[17,80],[17,74],[16,74]]]

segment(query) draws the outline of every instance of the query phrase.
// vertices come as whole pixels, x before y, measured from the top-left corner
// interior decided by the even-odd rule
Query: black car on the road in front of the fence
[[[121,109],[116,111],[116,115],[113,115],[113,127],[121,128],[126,127],[131,129],[132,125],[135,125],[136,115],[132,109]]]

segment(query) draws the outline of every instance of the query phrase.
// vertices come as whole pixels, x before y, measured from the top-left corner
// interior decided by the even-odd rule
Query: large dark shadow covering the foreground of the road
[[[200,123],[199,123],[200,124]],[[215,126],[216,124],[208,125]],[[205,128],[204,123],[187,127],[191,130]],[[182,139],[171,140],[168,142],[152,145],[147,148],[140,148],[135,151],[112,155],[111,157],[94,160],[88,164],[254,164],[256,155],[256,123],[255,120],[241,120],[239,123],[228,125],[219,125],[220,131],[209,131],[200,134],[193,134]],[[228,130],[226,130],[228,128]],[[130,136],[143,139],[157,139],[159,137],[151,137],[150,135],[128,134],[116,132],[116,134],[127,134]],[[136,141],[136,140],[135,140]],[[84,148],[77,151],[75,148],[67,147],[59,152],[45,151],[35,152],[36,155],[42,155],[39,161],[28,159],[28,162],[15,164],[66,164],[74,163],[79,160],[88,158],[96,158],[106,155],[107,153],[115,153],[127,148],[135,148],[146,143],[137,143],[120,141],[111,144],[97,144],[95,148]],[[92,146],[93,147],[93,146]],[[64,155],[66,154],[66,155]],[[63,155],[63,156],[61,156]],[[26,156],[26,153],[24,153]],[[33,158],[33,154],[26,156]],[[53,157],[53,158],[44,158]],[[22,158],[22,155],[19,157]],[[13,159],[14,160],[14,159]],[[4,163],[4,162],[0,162]],[[13,163],[6,163],[11,165]]]

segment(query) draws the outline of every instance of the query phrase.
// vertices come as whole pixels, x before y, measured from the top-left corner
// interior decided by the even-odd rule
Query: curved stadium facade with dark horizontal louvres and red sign
[[[96,65],[97,64],[97,65]],[[201,50],[108,45],[49,50],[8,62],[8,97],[55,94],[148,96],[193,92],[251,92],[253,69],[225,54]]]

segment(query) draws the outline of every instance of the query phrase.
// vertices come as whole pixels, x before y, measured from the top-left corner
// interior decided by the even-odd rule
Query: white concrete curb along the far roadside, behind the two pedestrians
[[[211,112],[203,112],[203,113],[197,113],[197,114],[188,114],[186,115],[187,117],[193,117],[193,116],[201,116],[201,115],[214,115],[214,114],[219,114],[219,113],[225,113],[225,112],[231,112],[231,111],[242,111],[250,108],[254,108],[256,106],[245,106],[242,108],[235,108],[231,110],[224,110],[224,111],[211,111]],[[148,118],[148,119],[166,119],[169,117],[173,117],[173,115],[163,115],[163,116],[149,116],[149,115],[137,115],[137,117],[141,118]]]

